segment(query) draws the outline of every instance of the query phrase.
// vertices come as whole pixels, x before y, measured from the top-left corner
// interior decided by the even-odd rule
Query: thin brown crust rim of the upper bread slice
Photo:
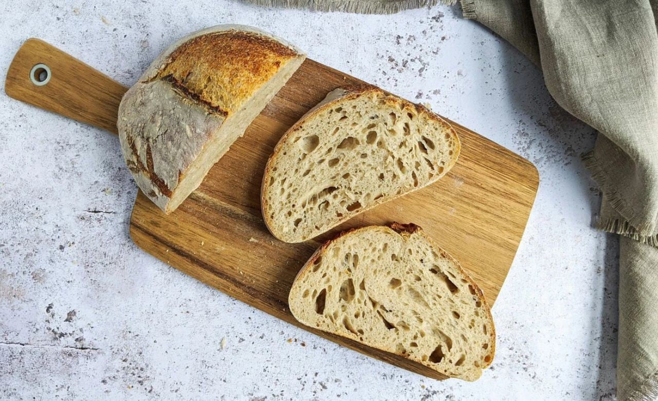
[[[263,221],[265,222],[265,226],[268,228],[268,230],[270,232],[272,232],[272,234],[274,234],[274,236],[276,236],[276,238],[279,238],[280,240],[283,240],[285,242],[295,242],[295,241],[288,241],[288,240],[285,240],[283,238],[280,238],[280,235],[277,235],[276,230],[274,230],[274,227],[272,225],[272,219],[269,217],[268,213],[266,213],[266,210],[269,209],[269,207],[270,207],[269,202],[267,201],[267,197],[266,197],[266,193],[268,191],[268,187],[266,186],[266,183],[270,180],[270,177],[272,176],[272,173],[273,173],[272,168],[274,167],[274,165],[272,165],[272,160],[276,159],[276,157],[282,151],[281,150],[281,147],[282,147],[281,144],[286,142],[288,140],[288,138],[291,138],[292,136],[294,136],[295,132],[299,131],[301,129],[301,126],[303,126],[303,124],[305,124],[305,122],[308,119],[312,119],[313,117],[315,117],[316,115],[322,113],[326,109],[336,107],[336,105],[338,105],[342,101],[347,101],[349,99],[356,99],[357,97],[359,97],[361,95],[368,94],[369,92],[372,93],[372,94],[376,94],[376,95],[383,95],[386,102],[389,105],[392,105],[393,107],[399,107],[400,104],[403,105],[404,109],[407,109],[407,107],[413,107],[419,115],[424,115],[424,116],[428,117],[429,119],[432,119],[432,120],[438,122],[444,128],[449,130],[449,132],[450,132],[450,134],[451,134],[451,136],[452,136],[452,138],[455,142],[455,150],[453,151],[453,155],[451,156],[449,163],[445,166],[445,173],[447,173],[447,171],[449,171],[455,165],[455,163],[457,163],[457,159],[459,158],[459,153],[461,151],[461,142],[459,141],[459,136],[457,136],[457,131],[455,131],[455,128],[453,128],[450,124],[448,124],[447,121],[443,120],[436,113],[433,113],[432,111],[430,111],[430,109],[428,109],[424,105],[420,105],[420,104],[417,104],[417,103],[412,103],[411,101],[407,101],[405,99],[402,99],[401,97],[391,95],[388,92],[386,92],[386,91],[384,91],[384,90],[382,90],[382,89],[380,89],[376,86],[373,86],[373,85],[370,85],[370,84],[365,84],[365,83],[364,84],[357,84],[357,85],[351,85],[351,86],[345,86],[345,87],[337,88],[336,90],[334,90],[334,91],[330,92],[329,94],[327,94],[327,97],[323,101],[320,101],[320,103],[318,103],[318,105],[316,105],[315,107],[310,109],[305,115],[303,115],[303,117],[301,117],[301,119],[299,119],[297,122],[295,122],[295,124],[293,124],[293,126],[288,128],[286,133],[281,137],[281,139],[278,141],[278,143],[274,147],[274,151],[272,152],[272,155],[270,155],[270,157],[267,161],[267,164],[265,166],[265,173],[263,173],[263,182],[261,182],[261,214],[263,215]],[[426,184],[424,184],[422,186],[418,186],[418,188],[415,188],[415,190],[419,190],[420,188],[424,188],[424,187],[426,187],[430,184],[433,184],[434,182],[436,182],[436,180],[441,178],[443,175],[445,175],[445,174],[435,176],[434,179],[429,180],[428,182],[426,182]],[[390,198],[390,199],[385,200],[385,201],[377,201],[377,200],[373,201],[370,205],[368,205],[368,207],[363,207],[359,211],[359,214],[361,214],[365,211],[368,211],[368,210],[372,209],[373,207],[376,207],[376,206],[378,206],[382,203],[386,203],[388,201],[392,201],[392,200],[395,200],[397,198],[400,198],[401,196],[405,196],[406,194],[407,193],[399,194],[399,195],[394,196],[393,198]],[[352,217],[353,216],[349,216],[349,215],[345,216],[343,219],[340,219],[340,221],[338,221],[338,223],[336,223],[336,225],[334,225],[334,227],[344,223],[345,221],[348,221]],[[321,233],[318,233],[318,234],[321,234]],[[296,241],[296,242],[301,242],[301,241]]]

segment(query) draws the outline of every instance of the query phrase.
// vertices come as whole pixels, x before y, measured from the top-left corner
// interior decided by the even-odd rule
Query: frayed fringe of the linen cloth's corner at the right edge
[[[610,202],[613,209],[624,217],[624,219],[605,219],[601,217],[596,228],[627,236],[649,246],[658,247],[658,234],[651,234],[649,231],[650,228],[645,228],[642,225],[638,227],[631,223],[633,212],[626,204],[626,201],[621,198],[619,192],[609,184],[605,171],[599,167],[599,163],[594,156],[594,151],[582,155],[582,162],[592,174],[592,178],[601,186],[603,196],[605,196],[606,200]],[[648,234],[647,231],[649,231]]]

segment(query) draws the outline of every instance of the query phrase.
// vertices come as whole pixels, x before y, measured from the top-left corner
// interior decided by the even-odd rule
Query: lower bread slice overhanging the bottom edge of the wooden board
[[[326,242],[292,284],[301,323],[478,379],[495,329],[482,290],[416,225],[365,227]]]

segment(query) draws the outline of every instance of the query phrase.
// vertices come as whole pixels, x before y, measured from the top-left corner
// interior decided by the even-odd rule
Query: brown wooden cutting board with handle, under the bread
[[[39,63],[50,70],[49,81],[42,86],[30,79],[30,71]],[[35,73],[39,72],[45,78],[43,70]],[[286,244],[269,234],[261,218],[259,195],[273,147],[324,95],[357,82],[361,81],[305,61],[174,213],[164,215],[138,194],[130,221],[132,239],[188,275],[303,327],[288,311],[288,291],[297,271],[322,241],[350,227],[416,223],[461,262],[493,304],[519,247],[537,192],[538,173],[526,159],[455,122],[451,124],[461,139],[461,155],[436,184],[380,205],[303,244]],[[15,99],[114,134],[118,104],[126,90],[36,39],[26,41],[16,53],[5,82],[5,92]],[[303,329],[422,375],[444,378],[405,358],[310,327]]]

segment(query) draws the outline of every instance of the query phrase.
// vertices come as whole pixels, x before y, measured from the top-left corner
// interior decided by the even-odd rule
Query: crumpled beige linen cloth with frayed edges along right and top
[[[395,13],[437,0],[247,0]],[[448,1],[449,2],[449,1]],[[561,107],[598,130],[584,161],[598,228],[621,235],[617,395],[658,399],[658,0],[461,0],[544,71]]]

